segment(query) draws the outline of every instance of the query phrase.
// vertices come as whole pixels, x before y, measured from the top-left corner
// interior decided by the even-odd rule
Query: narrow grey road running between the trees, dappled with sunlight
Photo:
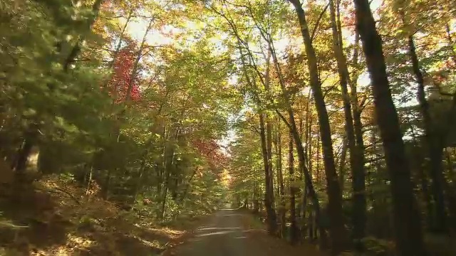
[[[272,238],[258,225],[252,227],[252,220],[252,215],[242,210],[219,210],[197,228],[191,238],[165,255],[286,256],[303,255],[306,250],[310,252],[307,256],[321,255],[313,247],[291,247],[284,240]]]

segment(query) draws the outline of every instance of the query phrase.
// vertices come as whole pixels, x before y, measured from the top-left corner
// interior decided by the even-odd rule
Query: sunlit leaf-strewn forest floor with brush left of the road
[[[0,256],[160,255],[199,221],[148,222],[86,192],[58,178],[0,184]]]

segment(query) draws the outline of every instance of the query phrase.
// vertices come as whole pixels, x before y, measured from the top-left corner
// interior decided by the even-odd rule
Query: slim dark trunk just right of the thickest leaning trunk
[[[404,18],[404,14],[402,14]],[[418,55],[415,50],[413,35],[408,36],[408,53],[412,60],[413,75],[418,83],[418,102],[420,103],[420,112],[423,116],[425,128],[425,140],[427,151],[430,158],[430,176],[432,178],[432,196],[434,198],[435,220],[433,221],[432,230],[445,232],[447,230],[447,213],[445,211],[445,178],[443,176],[443,146],[440,144],[440,134],[432,128],[432,119],[430,116],[429,103],[426,99],[425,81],[423,73],[420,70]]]

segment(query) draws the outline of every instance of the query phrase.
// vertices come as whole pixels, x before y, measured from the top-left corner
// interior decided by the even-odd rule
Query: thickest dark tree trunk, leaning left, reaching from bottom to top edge
[[[390,174],[396,250],[399,255],[404,256],[427,255],[398,113],[395,110],[386,74],[382,41],[375,28],[369,1],[354,0],[354,3],[356,28],[363,41],[363,51],[371,74],[375,119],[380,129],[386,166]]]

